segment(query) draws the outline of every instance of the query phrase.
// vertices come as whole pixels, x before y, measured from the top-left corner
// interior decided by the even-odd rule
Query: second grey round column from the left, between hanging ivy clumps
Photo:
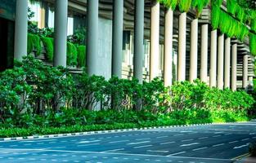
[[[54,19],[54,66],[66,67],[68,0],[56,0]]]

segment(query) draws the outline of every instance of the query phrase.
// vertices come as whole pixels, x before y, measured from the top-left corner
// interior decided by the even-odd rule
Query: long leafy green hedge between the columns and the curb
[[[141,110],[135,109],[138,101]],[[159,78],[142,84],[135,78],[106,81],[87,73],[71,75],[66,68],[48,67],[32,56],[0,73],[4,128],[246,121],[252,106],[254,99],[245,91],[218,90],[199,80],[171,87],[164,87]]]

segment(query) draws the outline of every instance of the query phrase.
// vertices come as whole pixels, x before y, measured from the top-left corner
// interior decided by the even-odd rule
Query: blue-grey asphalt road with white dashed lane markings
[[[256,123],[171,127],[0,142],[0,162],[234,162]]]

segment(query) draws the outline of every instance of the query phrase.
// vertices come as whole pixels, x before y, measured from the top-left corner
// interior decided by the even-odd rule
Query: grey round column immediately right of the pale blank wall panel
[[[124,0],[114,0],[112,76],[122,77]]]

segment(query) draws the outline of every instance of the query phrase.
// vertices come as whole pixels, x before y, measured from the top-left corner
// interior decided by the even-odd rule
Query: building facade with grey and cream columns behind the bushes
[[[213,28],[210,4],[199,16],[191,7],[174,10],[151,0],[18,0],[16,59],[27,54],[28,7],[38,28],[54,28],[55,66],[67,66],[66,37],[82,27],[87,34],[84,66],[90,75],[139,81],[162,77],[165,86],[200,78],[232,90],[248,88],[254,77],[249,38],[240,42]],[[221,7],[226,8],[226,1]]]

